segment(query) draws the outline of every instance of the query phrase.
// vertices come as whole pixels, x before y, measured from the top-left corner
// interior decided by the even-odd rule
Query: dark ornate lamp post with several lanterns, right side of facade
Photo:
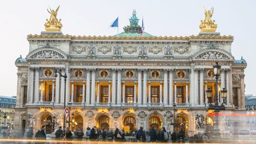
[[[221,66],[219,65],[218,62],[216,62],[215,65],[213,65],[213,71],[214,71],[214,74],[215,74],[215,78],[216,78],[216,84],[215,84],[215,104],[212,104],[212,89],[207,89],[206,90],[206,94],[207,94],[207,98],[209,99],[209,107],[208,107],[208,110],[214,110],[214,113],[215,113],[215,124],[214,124],[214,129],[213,129],[213,136],[216,136],[216,137],[219,137],[220,136],[220,132],[219,132],[219,117],[218,117],[218,114],[219,114],[219,111],[220,110],[225,110],[225,99],[226,99],[226,94],[227,94],[227,91],[225,88],[223,88],[221,92],[221,96],[223,98],[223,103],[221,105],[219,105],[219,98],[218,98],[218,78],[219,78],[219,75],[220,75],[220,68]]]

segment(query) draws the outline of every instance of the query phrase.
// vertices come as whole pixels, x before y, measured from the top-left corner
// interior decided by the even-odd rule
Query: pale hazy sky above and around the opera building
[[[245,94],[256,95],[256,1],[36,1],[5,0],[0,4],[0,95],[17,95],[17,57],[28,55],[28,34],[40,34],[49,18],[48,6],[62,19],[63,34],[111,36],[117,33],[110,24],[119,16],[119,32],[129,24],[133,9],[144,18],[145,31],[155,36],[190,36],[199,34],[203,6],[214,7],[213,20],[221,35],[232,35],[232,55],[247,60]],[[141,21],[139,21],[141,25]]]

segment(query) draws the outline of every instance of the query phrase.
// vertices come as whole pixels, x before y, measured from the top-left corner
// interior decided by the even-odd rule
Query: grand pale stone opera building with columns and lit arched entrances
[[[232,36],[216,33],[216,25],[209,28],[206,20],[197,36],[152,36],[142,31],[135,11],[129,20],[116,36],[64,35],[48,21],[46,31],[28,35],[29,53],[15,61],[17,127],[46,125],[51,133],[53,123],[63,126],[63,104],[70,101],[72,130],[155,126],[169,131],[175,112],[176,128],[191,136],[206,125],[206,89],[213,95],[228,90],[227,113],[245,110],[247,63],[232,56]],[[221,65],[217,91],[215,62]],[[68,76],[66,91],[55,70]],[[211,117],[207,123],[213,124]]]

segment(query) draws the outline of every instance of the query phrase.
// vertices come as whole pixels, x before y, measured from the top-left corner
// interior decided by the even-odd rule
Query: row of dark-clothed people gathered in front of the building
[[[46,127],[42,126],[41,130],[36,132],[36,139],[46,139]],[[33,129],[28,130],[27,136],[29,138],[33,137]],[[127,137],[134,137],[136,140],[140,142],[167,142],[168,140],[172,140],[172,142],[177,142],[185,139],[185,131],[181,128],[178,132],[167,132],[165,127],[162,127],[161,130],[156,130],[155,127],[151,127],[149,132],[145,132],[143,127],[140,127],[139,130],[130,129],[130,132],[124,132],[124,130],[120,130],[116,128],[115,130],[107,130],[102,129],[99,130],[97,127],[89,128],[84,132],[82,129],[76,130],[75,133],[71,132],[69,127],[66,128],[65,133],[63,133],[62,127],[55,132],[56,139],[66,139],[72,140],[73,137],[76,139],[86,139],[86,140],[126,140]],[[148,138],[148,139],[147,139]]]

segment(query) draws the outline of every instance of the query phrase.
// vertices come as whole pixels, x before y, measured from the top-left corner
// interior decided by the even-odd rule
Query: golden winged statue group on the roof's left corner
[[[60,6],[59,6],[60,7]],[[59,10],[59,7],[57,7],[56,10],[52,10],[50,7],[47,9],[47,11],[51,14],[50,19],[46,19],[46,23],[44,24],[46,31],[60,31],[62,28],[62,23],[60,23],[61,19],[57,19],[57,11]]]

